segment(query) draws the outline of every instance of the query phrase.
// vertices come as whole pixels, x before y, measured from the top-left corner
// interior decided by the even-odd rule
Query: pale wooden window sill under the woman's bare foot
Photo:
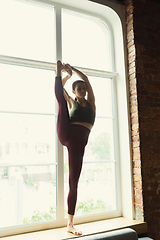
[[[147,233],[147,224],[136,220],[131,220],[123,217],[108,219],[98,222],[91,222],[77,225],[76,228],[82,230],[83,235],[90,235],[100,232],[108,232],[112,230],[130,227],[137,234]],[[26,233],[10,237],[2,237],[1,240],[65,240],[74,239],[76,236],[67,233],[66,228],[51,229],[33,233]]]

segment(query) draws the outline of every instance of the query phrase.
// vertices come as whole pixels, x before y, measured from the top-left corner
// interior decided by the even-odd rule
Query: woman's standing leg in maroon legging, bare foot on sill
[[[83,156],[85,146],[88,142],[90,130],[80,126],[72,125],[72,134],[68,142],[68,155],[69,155],[69,193],[68,193],[68,232],[76,235],[81,235],[82,232],[75,229],[73,225],[73,217],[75,214],[77,202],[77,188],[78,181],[82,169]]]

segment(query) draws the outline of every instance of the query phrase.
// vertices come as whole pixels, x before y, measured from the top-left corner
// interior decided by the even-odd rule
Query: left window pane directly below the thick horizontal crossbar
[[[54,113],[54,72],[0,64],[0,111]]]

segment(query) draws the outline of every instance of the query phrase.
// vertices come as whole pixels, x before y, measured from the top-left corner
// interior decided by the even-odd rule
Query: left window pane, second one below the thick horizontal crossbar
[[[55,117],[0,113],[0,164],[56,162]]]

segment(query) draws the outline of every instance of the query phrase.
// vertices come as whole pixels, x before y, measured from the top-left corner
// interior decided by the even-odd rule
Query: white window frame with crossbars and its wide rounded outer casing
[[[117,156],[120,161],[117,162],[117,168],[120,169],[118,176],[118,209],[112,213],[102,213],[86,217],[75,218],[75,223],[90,222],[102,220],[106,218],[113,218],[124,216],[130,219],[134,218],[133,214],[133,195],[132,195],[132,176],[131,176],[131,143],[130,143],[130,128],[129,128],[129,107],[128,107],[128,94],[127,94],[127,81],[126,81],[126,49],[125,46],[125,19],[123,6],[106,1],[108,6],[103,6],[97,3],[89,2],[87,0],[28,0],[31,2],[40,2],[44,4],[53,5],[55,7],[56,16],[56,59],[62,59],[62,36],[61,36],[61,8],[77,11],[79,13],[87,14],[91,17],[101,19],[109,29],[110,32],[110,48],[112,52],[112,67],[113,71],[100,71],[87,68],[80,68],[87,75],[97,77],[109,77],[113,79],[114,89],[114,102],[117,105],[116,115],[116,129],[118,138],[115,145],[117,149]],[[15,58],[0,55],[1,63],[15,64],[20,66],[28,66],[39,69],[56,70],[55,63],[47,63],[42,61],[28,60],[23,58]],[[117,74],[118,73],[118,74]],[[29,224],[25,226],[12,227],[9,229],[0,230],[0,236],[11,235],[16,233],[24,233],[37,231],[42,229],[50,229],[56,227],[66,226],[67,220],[64,219],[64,175],[63,169],[63,146],[58,143],[57,145],[58,168],[57,168],[57,181],[59,191],[57,192],[58,203],[58,218],[57,221],[49,221],[46,223]],[[121,194],[120,194],[121,193]],[[3,233],[2,233],[3,232]]]

